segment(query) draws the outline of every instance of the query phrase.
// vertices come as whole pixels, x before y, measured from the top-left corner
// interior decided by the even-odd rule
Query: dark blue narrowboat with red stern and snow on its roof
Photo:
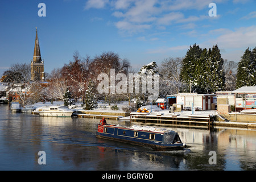
[[[96,137],[151,147],[154,150],[182,150],[185,147],[179,134],[170,130],[151,131],[142,127],[98,124]]]

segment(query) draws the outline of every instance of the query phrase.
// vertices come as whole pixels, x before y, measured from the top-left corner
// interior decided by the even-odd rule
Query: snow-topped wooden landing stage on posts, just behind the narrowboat
[[[188,126],[211,126],[213,118],[203,114],[152,114],[152,113],[131,113],[131,122],[158,123],[170,125]]]

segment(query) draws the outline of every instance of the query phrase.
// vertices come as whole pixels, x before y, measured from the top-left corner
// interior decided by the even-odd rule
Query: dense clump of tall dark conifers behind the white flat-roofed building
[[[225,88],[225,72],[222,68],[218,46],[203,50],[193,45],[187,51],[181,68],[181,80],[187,83],[187,89],[197,93],[212,93]]]

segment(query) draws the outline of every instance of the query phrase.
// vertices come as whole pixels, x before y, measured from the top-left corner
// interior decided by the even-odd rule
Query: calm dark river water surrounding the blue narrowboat
[[[98,122],[98,119],[11,113],[8,105],[0,105],[0,170],[256,169],[256,130],[170,127],[188,148],[153,151],[97,139]],[[130,125],[124,121],[107,122]],[[39,165],[39,151],[46,152],[46,164]],[[216,152],[216,164],[209,164],[210,151]]]

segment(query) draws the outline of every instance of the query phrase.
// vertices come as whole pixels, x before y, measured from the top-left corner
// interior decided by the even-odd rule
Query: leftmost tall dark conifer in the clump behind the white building
[[[202,49],[194,44],[193,46],[190,46],[185,58],[183,59],[180,77],[181,81],[187,84],[187,89],[184,90],[185,92],[189,91],[190,84],[192,84],[191,92],[193,92],[193,86],[195,85],[193,84],[193,81],[196,79],[196,68],[198,65],[200,65],[199,59],[201,57],[201,53]]]

